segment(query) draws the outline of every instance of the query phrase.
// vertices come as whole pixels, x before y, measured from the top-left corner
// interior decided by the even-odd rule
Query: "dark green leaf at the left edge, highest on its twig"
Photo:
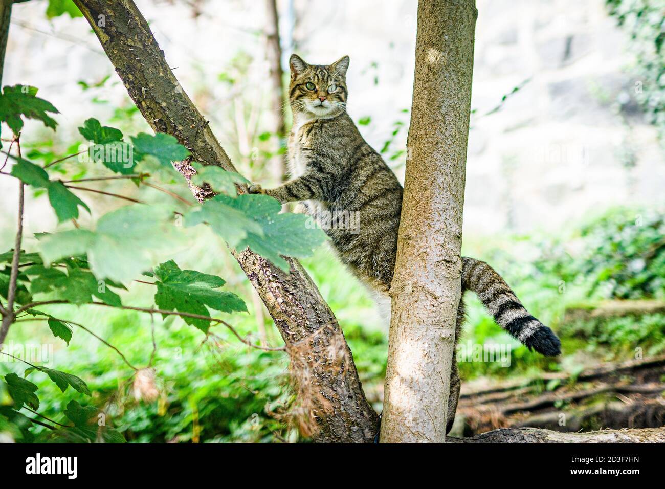
[[[57,114],[58,109],[39,98],[34,86],[5,86],[0,95],[0,120],[6,122],[15,135],[23,128],[23,117],[41,120],[45,126],[55,129],[57,122],[47,112]]]

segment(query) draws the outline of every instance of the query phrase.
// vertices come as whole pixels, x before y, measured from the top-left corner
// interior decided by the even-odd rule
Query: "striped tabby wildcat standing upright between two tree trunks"
[[[315,219],[357,212],[358,229],[324,226],[332,246],[370,289],[387,295],[397,253],[402,186],[381,156],[365,142],[346,114],[348,56],[332,65],[309,65],[297,55],[289,60],[289,102],[293,128],[289,136],[289,170],[293,180],[270,190],[251,185],[249,193],[266,194],[281,203],[301,201]],[[462,257],[462,291],[477,294],[503,329],[529,349],[547,356],[561,353],[561,342],[535,319],[501,275],[487,263]],[[464,323],[460,301],[456,342]],[[450,379],[447,432],[460,393],[455,356]]]

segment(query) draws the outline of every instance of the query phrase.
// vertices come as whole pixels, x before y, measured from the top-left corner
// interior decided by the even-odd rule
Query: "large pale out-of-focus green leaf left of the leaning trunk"
[[[168,210],[154,206],[125,206],[102,216],[94,232],[70,230],[41,238],[39,253],[49,263],[87,253],[95,277],[128,282],[149,269],[154,251],[176,236],[169,217]]]

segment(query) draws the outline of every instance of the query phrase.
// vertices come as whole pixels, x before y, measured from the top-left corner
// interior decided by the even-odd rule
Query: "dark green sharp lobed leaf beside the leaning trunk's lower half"
[[[245,302],[232,292],[219,291],[224,285],[223,279],[194,270],[181,270],[176,262],[169,260],[154,269],[157,293],[155,303],[166,311],[179,311],[209,316],[205,307],[215,311],[247,311]],[[166,317],[166,315],[164,315]],[[201,331],[207,331],[210,321],[193,317],[182,318],[187,324]]]

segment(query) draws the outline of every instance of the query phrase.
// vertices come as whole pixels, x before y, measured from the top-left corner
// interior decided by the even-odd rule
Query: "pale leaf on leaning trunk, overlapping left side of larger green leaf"
[[[185,226],[201,222],[209,224],[231,247],[237,247],[249,232],[263,236],[261,224],[237,209],[235,199],[224,195],[217,195],[185,214]]]

